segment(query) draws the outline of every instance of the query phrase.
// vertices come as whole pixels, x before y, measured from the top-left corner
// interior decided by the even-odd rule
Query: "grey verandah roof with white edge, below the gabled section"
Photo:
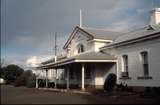
[[[86,62],[116,62],[116,57],[113,55],[102,53],[102,52],[85,52],[78,54],[76,56],[72,56],[70,58],[62,59],[57,61],[56,63],[50,63],[41,66],[40,68],[49,69],[49,68],[56,68],[65,66],[71,63],[86,63]]]

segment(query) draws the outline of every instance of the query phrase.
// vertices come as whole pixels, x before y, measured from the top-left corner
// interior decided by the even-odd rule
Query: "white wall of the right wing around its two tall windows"
[[[148,51],[149,76],[152,79],[137,79],[143,77],[143,69],[140,52]],[[115,49],[118,57],[118,77],[121,77],[122,55],[128,55],[128,70],[131,80],[121,80],[118,83],[126,83],[129,86],[160,86],[160,38],[136,43]]]

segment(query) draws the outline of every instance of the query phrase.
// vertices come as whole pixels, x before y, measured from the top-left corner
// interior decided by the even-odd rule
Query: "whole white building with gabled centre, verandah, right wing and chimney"
[[[119,33],[76,26],[64,45],[66,56],[40,66],[64,69],[64,84],[103,88],[109,74],[117,84],[160,87],[160,9],[151,12],[150,25]]]

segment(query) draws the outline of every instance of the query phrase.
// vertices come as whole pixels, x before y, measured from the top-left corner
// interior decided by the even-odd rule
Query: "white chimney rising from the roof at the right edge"
[[[150,25],[155,30],[160,30],[160,8],[151,11]]]

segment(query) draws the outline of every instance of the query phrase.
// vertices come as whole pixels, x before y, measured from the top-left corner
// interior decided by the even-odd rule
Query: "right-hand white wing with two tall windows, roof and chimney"
[[[118,37],[101,50],[116,55],[118,83],[160,87],[160,8],[151,12],[150,25]]]

